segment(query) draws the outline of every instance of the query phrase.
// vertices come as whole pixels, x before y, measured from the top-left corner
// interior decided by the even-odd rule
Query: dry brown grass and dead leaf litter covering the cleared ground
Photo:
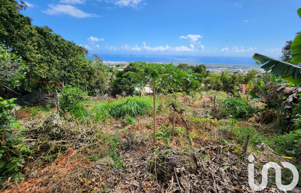
[[[187,109],[185,116],[201,117],[210,113],[210,98],[214,94],[219,95],[205,93],[202,99],[200,95],[197,95],[197,99],[192,99],[190,96],[179,94],[178,100],[180,105]],[[219,97],[223,95],[220,94]],[[169,110],[160,111],[156,118],[157,129],[163,124],[168,126],[172,123]],[[101,130],[104,135],[120,136],[120,148],[114,151],[115,154],[120,154],[119,166],[88,159],[88,155],[109,148],[107,142],[95,142],[93,146],[89,146],[89,151],[88,146],[76,145],[59,154],[52,163],[44,166],[30,164],[25,169],[26,173],[30,173],[26,180],[17,186],[10,182],[4,183],[4,192],[169,193],[181,192],[180,189],[185,193],[254,192],[247,182],[246,157],[249,154],[255,156],[258,175],[262,164],[271,158],[279,160],[279,156],[269,151],[254,151],[253,148],[249,148],[247,155],[242,157],[240,151],[237,151],[241,144],[225,141],[234,139],[233,133],[229,129],[218,129],[217,124],[190,122],[194,145],[194,148],[191,148],[183,133],[176,133],[169,141],[153,143],[152,118],[139,116],[135,121],[135,124],[129,126],[120,119],[110,119],[104,124],[84,123],[86,126],[83,131],[94,128]],[[73,124],[83,123],[74,120]],[[238,122],[237,126],[265,129],[262,124],[248,121]],[[178,116],[175,127],[185,128]],[[270,191],[278,192],[271,185],[262,192]]]

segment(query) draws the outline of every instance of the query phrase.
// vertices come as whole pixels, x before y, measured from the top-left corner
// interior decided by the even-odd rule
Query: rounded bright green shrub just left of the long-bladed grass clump
[[[86,93],[82,92],[79,88],[71,86],[66,86],[64,90],[65,92],[61,93],[59,97],[62,113],[70,112],[76,115],[76,117],[82,116],[85,107],[80,104],[80,101],[85,99]]]

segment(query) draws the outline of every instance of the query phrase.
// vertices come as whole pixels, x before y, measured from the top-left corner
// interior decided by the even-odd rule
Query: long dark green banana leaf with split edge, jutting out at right
[[[279,74],[281,78],[289,82],[293,82],[296,85],[301,84],[301,67],[257,53],[252,58],[256,61],[256,64],[263,64],[261,68],[265,71],[271,70],[271,73]]]

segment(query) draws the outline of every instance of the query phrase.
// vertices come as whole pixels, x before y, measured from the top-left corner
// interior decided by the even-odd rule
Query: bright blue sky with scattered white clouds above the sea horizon
[[[300,0],[26,0],[22,14],[89,53],[272,57],[301,31]],[[104,58],[101,55],[101,58]]]

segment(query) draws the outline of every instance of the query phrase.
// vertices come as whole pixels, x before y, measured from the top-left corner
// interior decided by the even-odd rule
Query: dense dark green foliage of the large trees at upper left
[[[88,51],[54,33],[47,26],[33,26],[32,19],[20,14],[26,5],[14,0],[0,3],[0,42],[28,66],[20,82],[28,90],[44,87],[54,79],[84,88],[95,70],[85,63]]]

